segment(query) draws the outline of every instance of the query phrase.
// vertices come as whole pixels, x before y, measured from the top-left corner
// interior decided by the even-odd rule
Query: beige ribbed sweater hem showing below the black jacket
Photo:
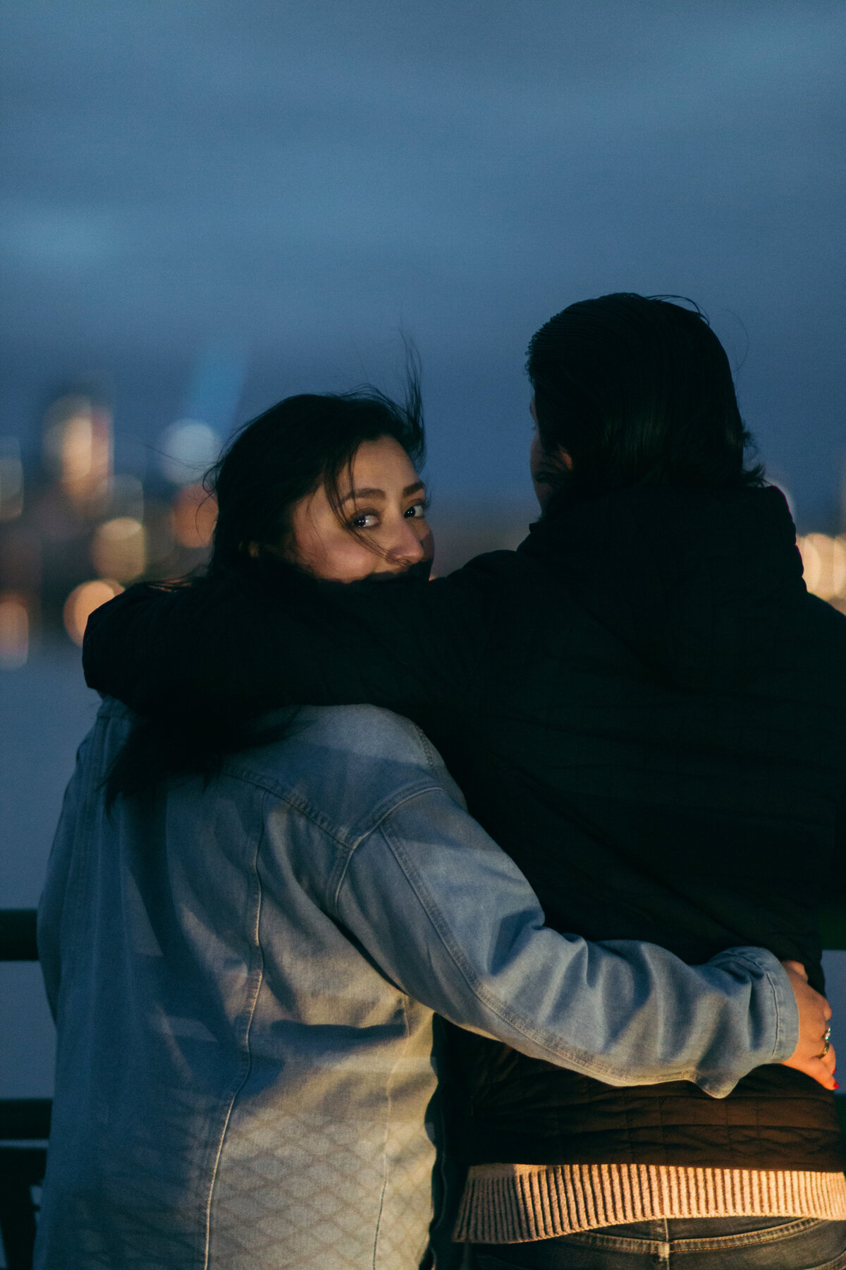
[[[843,1173],[676,1165],[474,1165],[453,1238],[526,1243],[657,1217],[846,1220]]]

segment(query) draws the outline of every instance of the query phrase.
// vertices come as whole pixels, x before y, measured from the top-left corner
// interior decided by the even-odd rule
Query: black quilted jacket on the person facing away
[[[775,489],[561,507],[431,584],[287,570],[99,610],[89,682],[205,735],[289,701],[415,718],[548,921],[701,961],[760,944],[822,987],[842,888],[846,617],[805,593]],[[192,724],[193,726],[194,724]],[[831,1095],[761,1068],[715,1102],[610,1090],[457,1035],[467,1160],[836,1171]]]

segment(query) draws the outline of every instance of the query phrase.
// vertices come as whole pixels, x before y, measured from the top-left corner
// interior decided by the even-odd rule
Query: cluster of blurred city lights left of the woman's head
[[[217,505],[202,479],[219,447],[214,428],[183,419],[146,475],[115,471],[112,411],[81,392],[46,410],[39,461],[0,438],[0,669],[25,665],[43,638],[81,644],[126,585],[203,566]]]

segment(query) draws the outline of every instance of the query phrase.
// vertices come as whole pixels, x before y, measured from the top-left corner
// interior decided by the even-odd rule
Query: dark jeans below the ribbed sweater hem
[[[660,1218],[533,1243],[477,1243],[473,1270],[846,1270],[846,1222]]]

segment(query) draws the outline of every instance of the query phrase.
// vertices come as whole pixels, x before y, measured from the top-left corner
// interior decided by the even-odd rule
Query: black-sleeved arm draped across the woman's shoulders
[[[140,714],[250,714],[368,701],[400,712],[465,697],[500,602],[496,578],[317,582],[263,566],[190,585],[131,587],[85,635],[90,687]]]

